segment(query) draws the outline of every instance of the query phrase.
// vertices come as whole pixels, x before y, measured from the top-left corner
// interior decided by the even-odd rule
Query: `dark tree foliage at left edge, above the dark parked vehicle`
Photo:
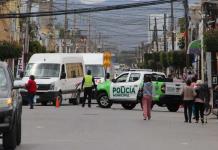
[[[22,47],[17,43],[0,42],[0,60],[18,58],[21,56]]]

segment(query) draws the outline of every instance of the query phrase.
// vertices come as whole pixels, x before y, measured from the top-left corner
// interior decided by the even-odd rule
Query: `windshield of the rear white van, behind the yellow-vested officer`
[[[104,77],[104,68],[102,65],[86,65],[86,73],[91,70],[93,77]]]

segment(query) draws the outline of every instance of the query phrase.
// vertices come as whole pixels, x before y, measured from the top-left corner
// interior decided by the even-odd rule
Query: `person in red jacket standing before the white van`
[[[33,109],[33,99],[34,99],[34,96],[36,94],[36,89],[37,89],[35,77],[33,75],[30,75],[29,80],[25,86],[28,91],[30,109]]]

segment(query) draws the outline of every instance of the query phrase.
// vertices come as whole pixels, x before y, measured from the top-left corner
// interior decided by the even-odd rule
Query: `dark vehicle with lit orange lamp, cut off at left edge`
[[[4,149],[14,150],[21,143],[22,98],[4,62],[0,62],[0,81],[0,134]]]

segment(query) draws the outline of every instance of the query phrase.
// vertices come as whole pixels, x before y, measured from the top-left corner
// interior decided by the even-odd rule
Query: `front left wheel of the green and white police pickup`
[[[107,94],[101,93],[97,98],[98,105],[101,108],[110,108],[112,106],[112,102],[109,100]]]

